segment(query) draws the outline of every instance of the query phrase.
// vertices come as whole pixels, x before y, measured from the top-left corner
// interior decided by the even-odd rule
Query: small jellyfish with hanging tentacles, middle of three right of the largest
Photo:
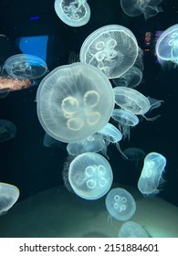
[[[132,112],[120,109],[114,109],[111,117],[118,123],[123,139],[128,137],[129,140],[131,127],[139,123],[139,118]]]

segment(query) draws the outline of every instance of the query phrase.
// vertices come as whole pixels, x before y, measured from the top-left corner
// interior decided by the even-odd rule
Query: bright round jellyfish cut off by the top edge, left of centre
[[[56,0],[55,11],[71,27],[80,27],[89,22],[90,8],[87,0]]]

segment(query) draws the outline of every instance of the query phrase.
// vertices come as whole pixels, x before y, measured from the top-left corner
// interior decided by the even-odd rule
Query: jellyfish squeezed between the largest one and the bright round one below
[[[67,145],[67,151],[69,155],[80,155],[86,152],[100,151],[103,155],[107,156],[107,145],[102,137],[93,134],[79,142],[69,143]]]

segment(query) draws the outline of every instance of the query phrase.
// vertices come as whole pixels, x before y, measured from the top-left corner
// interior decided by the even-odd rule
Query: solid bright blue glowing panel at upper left
[[[47,60],[48,36],[18,37],[16,45],[24,54],[35,55],[44,61]]]

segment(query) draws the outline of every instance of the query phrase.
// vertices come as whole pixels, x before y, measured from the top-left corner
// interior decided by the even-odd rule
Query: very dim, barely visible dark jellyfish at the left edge
[[[5,119],[0,119],[0,142],[4,143],[16,136],[16,125]]]

